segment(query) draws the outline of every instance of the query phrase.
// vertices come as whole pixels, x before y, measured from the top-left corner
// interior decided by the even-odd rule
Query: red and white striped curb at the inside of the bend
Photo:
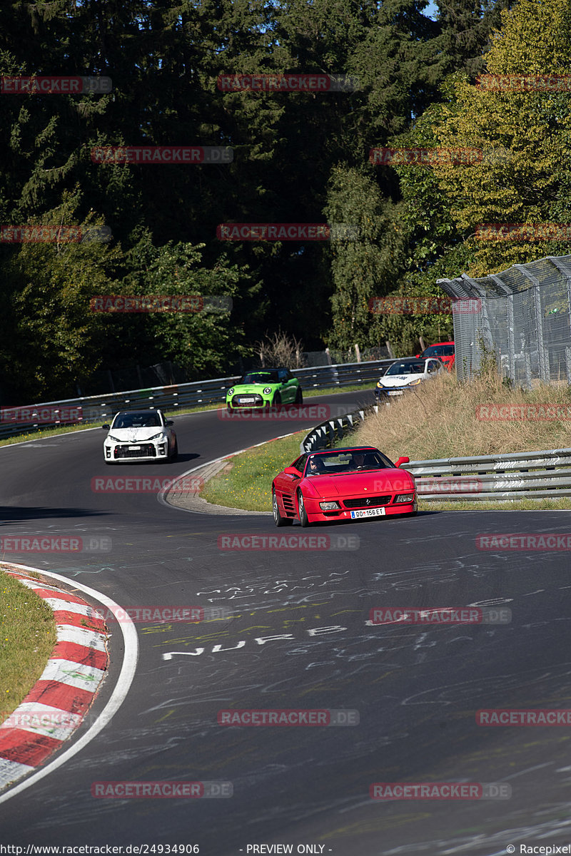
[[[53,609],[57,643],[39,681],[0,724],[0,790],[44,764],[68,740],[109,663],[105,623],[89,603],[21,571],[5,570]]]

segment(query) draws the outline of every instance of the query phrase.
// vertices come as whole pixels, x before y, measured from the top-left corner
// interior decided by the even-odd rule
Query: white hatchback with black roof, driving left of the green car
[[[116,413],[103,443],[106,464],[135,461],[174,461],[178,455],[172,419],[162,410],[122,410]]]

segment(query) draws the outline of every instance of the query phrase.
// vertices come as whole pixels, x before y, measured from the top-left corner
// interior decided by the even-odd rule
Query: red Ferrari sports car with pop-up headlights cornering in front
[[[301,455],[271,483],[276,526],[416,514],[416,484],[374,446]]]

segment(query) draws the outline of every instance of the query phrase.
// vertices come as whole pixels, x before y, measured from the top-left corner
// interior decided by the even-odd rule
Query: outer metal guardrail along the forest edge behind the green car
[[[384,374],[395,360],[372,360],[366,363],[344,363],[332,366],[313,366],[307,369],[293,369],[292,374],[300,378],[301,388],[305,394],[312,389],[327,387],[353,386],[359,383],[372,383]],[[104,395],[88,395],[81,398],[70,398],[62,401],[45,401],[42,404],[32,404],[27,407],[10,407],[2,410],[27,410],[32,412],[29,421],[0,420],[0,439],[38,431],[42,428],[61,427],[70,424],[62,418],[61,412],[69,408],[81,408],[80,419],[74,424],[91,424],[110,420],[119,410],[134,407],[158,407],[167,413],[176,413],[185,407],[200,404],[220,404],[226,400],[226,390],[240,380],[240,375],[233,377],[215,377],[193,383],[179,383],[172,386],[157,386],[149,389],[129,389],[125,392],[105,393]],[[39,411],[51,408],[54,419],[45,421],[39,418]],[[34,417],[34,413],[36,414]],[[58,415],[59,414],[59,415]]]

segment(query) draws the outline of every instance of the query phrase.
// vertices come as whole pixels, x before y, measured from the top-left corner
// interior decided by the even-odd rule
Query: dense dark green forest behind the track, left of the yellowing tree
[[[3,401],[73,395],[75,383],[99,367],[173,360],[189,378],[234,371],[253,342],[278,328],[307,349],[390,339],[406,350],[419,334],[449,335],[449,318],[374,317],[367,300],[436,293],[437,276],[473,264],[478,250],[466,241],[473,217],[462,207],[473,188],[458,182],[478,181],[479,172],[379,167],[368,152],[453,137],[509,148],[507,133],[484,140],[491,126],[470,93],[486,57],[497,69],[517,61],[498,58],[510,51],[501,40],[486,52],[506,0],[442,0],[435,20],[423,14],[426,5],[5,3],[4,77],[104,75],[113,88],[0,95],[1,223],[104,225],[112,235],[109,243],[0,243]],[[522,15],[520,27],[526,24]],[[543,25],[561,38],[535,66],[561,65],[566,15],[554,20],[547,12]],[[520,65],[528,59],[522,54]],[[298,72],[350,74],[359,86],[326,93],[217,86],[221,74]],[[538,123],[549,124],[566,105],[538,104]],[[526,121],[524,110],[514,110],[512,132]],[[92,163],[94,146],[144,144],[231,146],[234,160]],[[557,175],[560,188],[565,170]],[[562,214],[555,199],[547,207],[551,219]],[[220,241],[217,225],[228,222],[350,223],[360,226],[360,239]],[[228,295],[232,312],[110,317],[89,309],[95,294],[191,293]]]

